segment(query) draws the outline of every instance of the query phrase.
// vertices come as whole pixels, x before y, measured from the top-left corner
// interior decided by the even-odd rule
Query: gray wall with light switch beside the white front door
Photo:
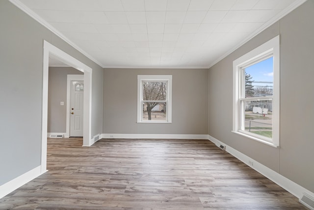
[[[48,82],[48,133],[66,132],[67,75],[83,74],[72,67],[49,67]],[[60,102],[64,105],[61,106]]]

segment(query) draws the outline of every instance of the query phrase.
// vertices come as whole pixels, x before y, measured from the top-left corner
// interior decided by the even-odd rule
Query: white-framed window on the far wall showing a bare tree
[[[137,75],[137,122],[171,122],[172,75]]]

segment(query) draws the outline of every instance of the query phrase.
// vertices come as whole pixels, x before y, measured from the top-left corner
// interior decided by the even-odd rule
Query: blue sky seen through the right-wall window
[[[254,81],[273,82],[273,57],[245,68],[245,72],[250,74]],[[265,84],[253,83],[253,85],[264,86]],[[268,84],[268,86],[272,86],[272,84]]]

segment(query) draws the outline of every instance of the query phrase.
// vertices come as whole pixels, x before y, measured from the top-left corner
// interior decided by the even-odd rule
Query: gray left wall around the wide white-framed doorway
[[[92,133],[103,129],[103,68],[0,0],[0,185],[41,163],[43,40],[93,69]]]

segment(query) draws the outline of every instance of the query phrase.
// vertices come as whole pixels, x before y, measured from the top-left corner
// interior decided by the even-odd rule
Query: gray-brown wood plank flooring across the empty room
[[[49,171],[0,210],[303,210],[298,199],[208,140],[48,139]]]

